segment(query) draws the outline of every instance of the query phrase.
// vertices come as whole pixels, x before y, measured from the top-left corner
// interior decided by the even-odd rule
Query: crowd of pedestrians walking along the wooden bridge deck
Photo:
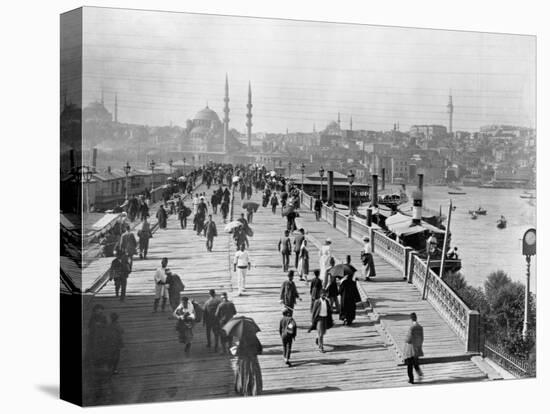
[[[217,187],[211,192],[210,198],[207,198],[206,192],[197,192],[196,184],[199,179],[207,189],[210,189],[211,186]],[[188,178],[183,189],[190,196],[193,196],[193,192],[195,193],[191,199],[191,208],[185,205],[183,192],[174,192],[170,197],[164,198],[156,213],[158,228],[161,231],[166,229],[168,217],[175,214],[181,229],[185,230],[187,229],[187,219],[192,215],[193,232],[206,239],[207,252],[213,251],[214,238],[218,236],[218,229],[213,217],[221,215],[219,222],[226,224],[230,211],[233,216],[231,203],[234,203],[234,198],[240,195],[245,212],[240,214],[229,230],[227,227],[225,230],[232,233],[235,242],[236,252],[232,261],[232,270],[236,274],[237,295],[246,292],[247,272],[250,271],[252,265],[249,254],[249,237],[253,235],[253,231],[250,224],[257,208],[254,208],[253,203],[248,204],[253,207],[244,208],[244,202],[250,200],[254,191],[261,192],[264,208],[271,207],[273,214],[277,214],[277,210],[280,210],[281,217],[285,220],[283,235],[278,241],[278,251],[282,258],[282,270],[286,273],[287,279],[283,282],[280,291],[280,303],[283,309],[278,329],[285,364],[292,365],[292,345],[298,334],[294,312],[297,303],[302,301],[294,282],[295,275],[308,287],[311,324],[308,326],[307,332],[316,331],[315,346],[320,352],[325,352],[324,337],[334,325],[333,315],[338,314],[344,326],[353,324],[356,318],[356,304],[361,301],[357,287],[358,272],[352,266],[349,255],[346,257],[345,263],[336,264],[337,259],[333,253],[330,238],[327,238],[319,249],[318,268],[311,270],[312,267],[317,266],[311,266],[310,263],[307,232],[304,228],[298,228],[296,224],[296,218],[299,217],[300,194],[293,183],[286,182],[284,177],[267,173],[265,169],[258,171],[257,168],[252,169],[245,166],[211,164],[201,168],[200,174],[194,172],[192,178]],[[232,195],[236,192],[238,195],[232,200]],[[139,198],[136,199],[140,205]],[[130,213],[130,206],[134,206],[134,204],[134,201],[128,203],[128,211],[120,222],[121,234],[113,249],[115,258],[110,271],[110,278],[115,284],[115,295],[120,297],[121,301],[125,300],[127,280],[132,272],[134,256],[139,254],[140,259],[146,260],[149,241],[153,237],[148,213],[139,216],[142,223],[137,232],[137,238],[132,232],[130,223],[138,217],[134,216],[135,209],[133,207],[131,208],[132,213]],[[316,202],[315,211],[316,217],[319,219],[320,208],[318,209],[317,204]],[[365,278],[370,279],[376,276],[375,265],[370,241],[365,238],[364,242],[361,254],[362,273]],[[262,344],[254,329],[245,329],[246,333],[239,336],[231,335],[227,326],[234,320],[237,310],[229,300],[228,294],[223,292],[218,296],[214,289],[210,289],[208,300],[205,303],[201,305],[195,302],[184,294],[185,285],[182,278],[170,270],[168,262],[169,258],[162,258],[160,267],[155,270],[153,276],[152,312],[157,313],[159,307],[161,313],[166,312],[167,305],[169,306],[170,317],[176,322],[177,340],[184,345],[184,352],[187,356],[191,352],[195,325],[202,322],[206,333],[206,347],[214,352],[221,349],[222,354],[231,352],[237,357],[235,391],[241,395],[261,393],[262,377],[257,356],[262,353]],[[311,273],[312,276],[310,276]],[[103,308],[101,305],[96,305],[96,307],[98,308],[94,308],[89,322],[88,353],[91,359],[97,360],[101,353],[98,350],[109,349],[108,352],[101,353],[102,357],[99,359],[107,358],[107,354],[110,355],[108,366],[112,373],[116,373],[120,349],[123,346],[123,330],[118,325],[116,314],[111,315],[111,323],[107,324],[106,318],[102,315]],[[111,325],[112,331],[116,331],[117,336],[114,333],[105,335],[101,333],[103,327]],[[415,329],[418,331],[418,328]],[[411,339],[412,342],[416,341],[415,352],[411,351],[415,356],[411,356],[412,359],[407,360],[407,364],[412,368],[418,368],[419,340],[417,337],[418,335],[415,336],[416,339]],[[418,370],[418,372],[420,371]]]

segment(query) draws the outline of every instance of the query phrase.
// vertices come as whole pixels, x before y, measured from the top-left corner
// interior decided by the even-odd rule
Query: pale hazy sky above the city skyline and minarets
[[[342,127],[535,127],[533,36],[85,8],[83,103],[104,93],[120,122],[184,126],[208,105],[253,132]],[[63,88],[63,85],[62,85]]]

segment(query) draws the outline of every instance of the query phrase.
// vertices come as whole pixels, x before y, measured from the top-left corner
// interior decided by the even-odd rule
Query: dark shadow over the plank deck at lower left
[[[187,296],[203,303],[200,294]],[[190,399],[228,398],[233,392],[234,371],[229,355],[206,348],[202,322],[193,329],[193,344],[189,356],[179,343],[176,321],[167,304],[165,312],[152,313],[154,296],[128,295],[124,302],[113,296],[96,296],[84,309],[87,324],[94,305],[105,307],[104,315],[119,315],[124,329],[119,374],[111,375],[105,364],[85,363],[83,405],[112,405],[144,402],[166,402]],[[86,355],[87,337],[83,338]],[[213,341],[212,341],[213,342]],[[79,363],[79,361],[75,361]]]

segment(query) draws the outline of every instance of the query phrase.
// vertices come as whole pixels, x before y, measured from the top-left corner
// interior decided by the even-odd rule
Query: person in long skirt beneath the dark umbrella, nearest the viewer
[[[244,335],[237,345],[237,371],[235,374],[235,392],[239,395],[260,395],[263,390],[262,371],[258,355],[263,347],[253,333]]]

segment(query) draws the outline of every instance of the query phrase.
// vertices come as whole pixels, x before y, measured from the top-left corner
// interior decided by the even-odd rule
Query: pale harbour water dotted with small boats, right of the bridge
[[[482,286],[491,272],[503,270],[513,280],[525,283],[522,237],[525,230],[536,227],[536,200],[520,198],[524,193],[521,189],[462,187],[465,195],[449,195],[448,191],[448,187],[424,187],[424,205],[434,210],[441,206],[445,215],[449,199],[456,206],[451,215],[452,246],[458,247],[466,280],[474,286]],[[487,215],[472,220],[468,210],[479,206],[487,210]],[[505,229],[497,228],[496,222],[501,215],[508,222]],[[536,286],[535,261],[536,258],[531,260],[532,292]]]

